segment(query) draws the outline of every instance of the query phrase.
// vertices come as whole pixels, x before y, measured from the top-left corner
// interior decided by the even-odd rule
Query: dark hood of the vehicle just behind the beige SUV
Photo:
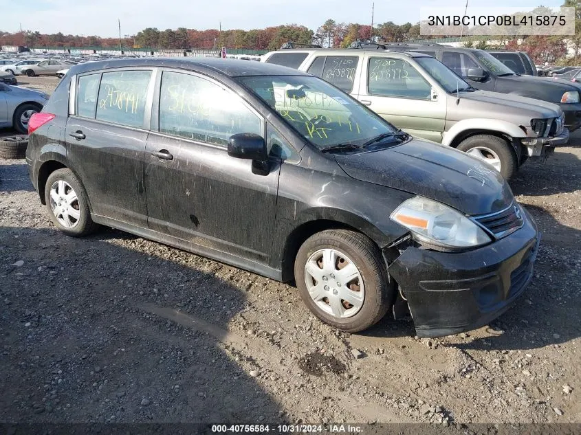
[[[516,93],[519,96],[538,98],[538,100],[558,104],[564,92],[581,92],[581,85],[566,80],[555,80],[551,77],[503,76],[496,77],[494,91]]]

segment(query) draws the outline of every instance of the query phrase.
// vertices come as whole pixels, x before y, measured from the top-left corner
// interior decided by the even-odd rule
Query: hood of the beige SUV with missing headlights
[[[460,93],[458,104],[448,104],[448,118],[493,118],[529,126],[532,119],[558,118],[562,111],[557,104],[519,97],[507,93],[474,91]],[[456,100],[456,95],[452,94]]]

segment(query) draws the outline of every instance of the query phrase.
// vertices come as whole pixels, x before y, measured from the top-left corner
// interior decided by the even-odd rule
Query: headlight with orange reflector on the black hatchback
[[[404,201],[389,218],[430,245],[474,247],[491,241],[481,227],[457,210],[424,197]]]

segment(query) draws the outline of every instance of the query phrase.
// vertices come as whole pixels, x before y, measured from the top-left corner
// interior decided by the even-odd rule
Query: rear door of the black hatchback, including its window
[[[147,226],[143,184],[155,69],[125,68],[76,77],[66,128],[67,155],[94,214]]]

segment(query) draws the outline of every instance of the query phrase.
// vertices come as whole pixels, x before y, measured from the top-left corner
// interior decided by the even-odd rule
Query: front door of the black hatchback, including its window
[[[151,133],[146,146],[149,227],[266,263],[280,162],[258,175],[250,160],[227,151],[231,135],[264,136],[261,116],[219,82],[179,71],[163,72],[155,101],[159,132]]]

